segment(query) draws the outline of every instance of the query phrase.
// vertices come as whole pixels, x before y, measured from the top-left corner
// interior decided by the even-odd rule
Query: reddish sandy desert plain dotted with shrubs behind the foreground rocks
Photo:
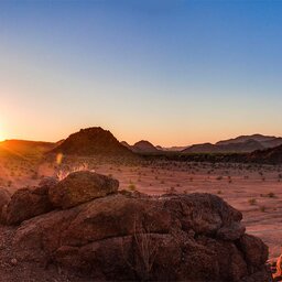
[[[88,162],[89,163],[89,162]],[[173,193],[213,193],[242,212],[249,234],[260,237],[270,248],[270,258],[281,254],[282,238],[282,166],[227,163],[165,162],[139,165],[87,162],[70,170],[90,169],[119,180],[120,189],[150,195]],[[0,186],[11,193],[36,185],[54,174],[51,163],[35,161],[0,162]]]

